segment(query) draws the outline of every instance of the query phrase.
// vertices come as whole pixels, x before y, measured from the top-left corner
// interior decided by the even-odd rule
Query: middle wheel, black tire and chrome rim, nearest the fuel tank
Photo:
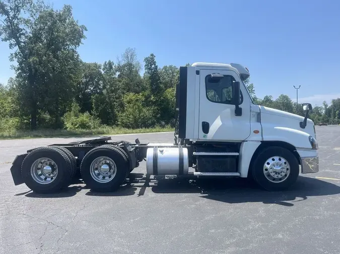
[[[103,159],[106,158],[106,159]],[[102,161],[100,161],[102,160]],[[97,163],[98,162],[98,163]],[[100,172],[100,163],[109,168],[107,175]],[[97,167],[95,166],[97,163]],[[128,160],[125,155],[112,145],[103,145],[90,150],[80,166],[83,181],[88,187],[98,192],[109,192],[119,188],[128,171]]]

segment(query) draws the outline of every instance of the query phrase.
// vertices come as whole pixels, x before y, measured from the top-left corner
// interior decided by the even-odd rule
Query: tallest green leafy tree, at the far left
[[[73,98],[77,48],[85,38],[85,26],[76,22],[71,6],[60,11],[32,0],[0,1],[0,36],[9,42],[15,67],[21,110],[37,128],[38,114],[53,115],[54,126]]]

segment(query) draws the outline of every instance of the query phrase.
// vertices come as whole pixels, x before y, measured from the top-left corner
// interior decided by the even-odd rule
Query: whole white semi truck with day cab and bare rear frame
[[[180,67],[173,144],[103,137],[35,148],[16,157],[14,183],[50,193],[78,177],[95,191],[113,191],[146,160],[147,175],[249,177],[266,190],[289,188],[300,165],[302,174],[319,171],[311,105],[304,104],[305,117],[256,105],[244,85],[249,75],[240,64]]]

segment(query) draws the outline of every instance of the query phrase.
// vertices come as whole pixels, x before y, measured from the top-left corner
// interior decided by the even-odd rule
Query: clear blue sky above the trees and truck
[[[299,102],[340,97],[340,1],[52,1],[70,4],[88,28],[84,61],[116,61],[127,47],[159,67],[193,62],[240,63],[258,97],[288,94]],[[0,42],[0,82],[14,75]]]

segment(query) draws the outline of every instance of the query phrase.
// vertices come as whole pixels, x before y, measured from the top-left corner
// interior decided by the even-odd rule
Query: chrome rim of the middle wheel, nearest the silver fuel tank
[[[117,167],[111,158],[101,156],[91,163],[91,177],[99,183],[108,183],[112,181],[116,173]]]

